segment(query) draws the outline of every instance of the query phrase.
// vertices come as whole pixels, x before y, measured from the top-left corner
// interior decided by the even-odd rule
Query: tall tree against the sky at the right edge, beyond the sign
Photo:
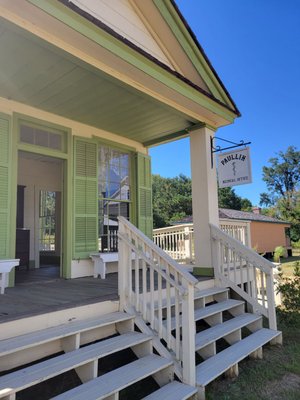
[[[269,160],[263,167],[263,180],[268,193],[260,195],[260,204],[271,207],[275,215],[292,223],[291,238],[300,239],[300,151],[289,146],[284,153]]]

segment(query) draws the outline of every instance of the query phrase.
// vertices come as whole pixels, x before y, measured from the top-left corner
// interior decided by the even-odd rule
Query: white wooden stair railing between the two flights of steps
[[[183,382],[195,385],[197,279],[123,217],[118,236],[121,309],[142,315],[174,354]]]

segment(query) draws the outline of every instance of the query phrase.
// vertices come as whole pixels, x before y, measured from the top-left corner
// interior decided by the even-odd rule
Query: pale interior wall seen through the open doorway
[[[61,192],[62,172],[62,162],[59,160],[19,153],[18,185],[26,186],[24,228],[30,229],[30,260],[34,260],[35,254],[38,254],[39,191]]]

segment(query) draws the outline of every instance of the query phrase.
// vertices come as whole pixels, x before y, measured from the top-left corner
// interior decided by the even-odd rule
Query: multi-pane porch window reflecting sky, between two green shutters
[[[130,154],[107,146],[98,154],[99,250],[118,251],[118,216],[129,219]]]

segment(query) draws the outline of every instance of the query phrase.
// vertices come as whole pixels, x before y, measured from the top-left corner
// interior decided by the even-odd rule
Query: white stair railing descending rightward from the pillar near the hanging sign
[[[220,285],[232,288],[256,313],[263,314],[277,329],[274,298],[274,264],[239,240],[210,224],[212,260]]]

